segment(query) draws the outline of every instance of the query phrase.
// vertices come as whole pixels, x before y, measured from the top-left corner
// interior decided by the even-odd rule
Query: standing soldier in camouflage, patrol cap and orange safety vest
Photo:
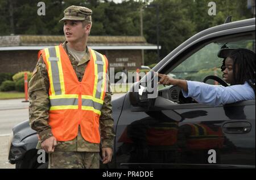
[[[112,160],[113,118],[108,60],[87,47],[92,10],[64,10],[66,41],[39,51],[29,82],[30,125],[49,153],[48,168],[99,168]]]

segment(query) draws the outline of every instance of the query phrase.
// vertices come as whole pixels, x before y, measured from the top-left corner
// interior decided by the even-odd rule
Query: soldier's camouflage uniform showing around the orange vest
[[[72,6],[71,6],[72,7]],[[77,7],[77,6],[76,6]],[[65,12],[65,11],[64,11]],[[66,16],[66,15],[65,15]],[[63,44],[63,48],[67,52],[67,41]],[[76,72],[78,80],[81,82],[84,76],[86,64],[90,60],[90,52],[86,47],[86,53],[80,60],[67,52],[69,60]],[[108,81],[108,89],[104,98],[104,104],[100,116],[100,134],[102,148],[112,148],[114,139],[111,90]],[[39,143],[37,149],[40,148],[42,141],[53,136],[51,127],[48,124],[49,118],[49,78],[46,64],[41,56],[36,64],[36,68],[32,74],[32,78],[28,83],[28,93],[30,97],[29,117],[31,128],[38,132]],[[81,152],[87,152],[86,154]],[[83,139],[80,132],[75,139],[70,141],[57,141],[55,152],[49,154],[49,168],[98,168],[100,161],[100,144],[90,143]],[[84,166],[82,166],[82,160]],[[64,161],[66,163],[64,163]],[[86,162],[86,163],[85,163]],[[90,162],[90,163],[89,163]]]

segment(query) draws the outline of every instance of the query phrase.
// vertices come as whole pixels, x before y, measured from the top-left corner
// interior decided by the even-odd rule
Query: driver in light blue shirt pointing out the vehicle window
[[[255,99],[255,53],[249,49],[222,49],[224,57],[221,70],[230,86],[214,86],[203,82],[174,79],[158,74],[159,83],[181,87],[185,98],[212,106]]]

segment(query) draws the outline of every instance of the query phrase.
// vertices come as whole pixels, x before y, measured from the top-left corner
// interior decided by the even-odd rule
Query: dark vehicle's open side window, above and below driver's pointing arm
[[[223,58],[218,57],[221,48],[247,48],[255,52],[255,32],[237,34],[229,37],[218,37],[208,43],[195,47],[192,51],[181,57],[175,64],[162,72],[177,79],[203,82],[208,76],[217,76],[222,79],[221,65]],[[217,81],[209,79],[206,83],[220,85]],[[225,83],[225,82],[224,82]],[[195,99],[184,98],[180,87],[158,86],[160,97],[169,99],[178,104],[197,103]]]

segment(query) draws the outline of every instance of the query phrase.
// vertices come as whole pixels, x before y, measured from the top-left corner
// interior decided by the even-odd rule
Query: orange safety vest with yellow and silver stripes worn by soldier
[[[49,125],[57,141],[81,135],[90,143],[100,143],[99,119],[106,92],[108,60],[89,49],[84,77],[79,82],[67,53],[59,46],[46,48],[42,55],[49,77]]]

